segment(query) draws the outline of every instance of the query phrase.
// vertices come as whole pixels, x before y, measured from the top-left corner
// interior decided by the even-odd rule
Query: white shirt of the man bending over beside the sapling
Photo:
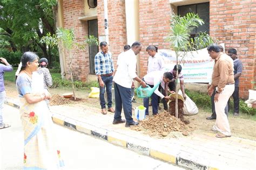
[[[161,70],[158,70],[158,71],[154,71],[154,72],[150,72],[149,74],[146,74],[145,76],[144,76],[144,81],[147,83],[147,84],[150,84],[150,85],[153,85],[153,86],[155,86],[157,83],[159,83],[159,81],[161,82],[160,84],[160,86],[162,87],[162,88],[165,88],[164,86],[163,86],[163,76],[164,76],[164,71],[161,71]],[[158,88],[156,89],[156,90],[154,90],[154,93],[156,94],[156,95],[158,95],[159,97],[161,97],[161,98],[164,98],[164,95],[163,94],[161,94],[161,92],[158,90]]]

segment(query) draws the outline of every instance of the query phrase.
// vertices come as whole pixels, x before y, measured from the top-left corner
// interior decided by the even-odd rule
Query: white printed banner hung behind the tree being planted
[[[224,47],[224,44],[220,44]],[[172,69],[176,65],[176,54],[174,51],[159,49],[158,53],[165,60],[165,67]],[[179,63],[183,58],[183,52],[179,52]],[[207,48],[198,51],[187,52],[181,61],[184,82],[208,83],[212,79],[214,60],[209,56]]]

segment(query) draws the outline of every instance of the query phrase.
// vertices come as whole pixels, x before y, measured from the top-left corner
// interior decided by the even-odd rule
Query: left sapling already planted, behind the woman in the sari
[[[41,39],[41,42],[47,44],[50,47],[59,46],[61,50],[64,51],[65,54],[68,55],[69,59],[69,70],[70,77],[73,89],[73,96],[76,100],[75,95],[75,86],[73,81],[73,69],[72,69],[72,60],[75,54],[77,54],[80,50],[85,50],[86,45],[98,45],[98,39],[94,36],[85,37],[83,42],[75,42],[75,33],[71,29],[63,29],[58,28],[56,31],[56,35],[48,34]]]

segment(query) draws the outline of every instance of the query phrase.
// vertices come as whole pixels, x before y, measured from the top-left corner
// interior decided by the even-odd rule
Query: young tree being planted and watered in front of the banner
[[[169,41],[171,48],[176,54],[177,68],[187,52],[194,51],[197,49],[205,48],[213,43],[213,39],[206,33],[199,33],[194,39],[190,38],[191,31],[203,25],[204,21],[199,18],[197,14],[187,13],[184,17],[178,16],[175,13],[172,14],[171,20],[171,34],[166,38]],[[178,58],[181,56],[181,60]],[[178,84],[178,70],[176,77],[176,87]],[[176,111],[175,115],[178,118],[178,88],[176,88]]]

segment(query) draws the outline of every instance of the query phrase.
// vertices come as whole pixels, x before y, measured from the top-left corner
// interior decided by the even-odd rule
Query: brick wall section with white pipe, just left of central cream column
[[[125,17],[125,1],[109,0],[108,1],[108,17],[109,17],[109,49],[112,53],[115,69],[117,56],[123,52],[124,45],[127,44],[126,38],[126,17]],[[98,34],[105,34],[104,29],[104,3],[103,0],[98,1]]]

